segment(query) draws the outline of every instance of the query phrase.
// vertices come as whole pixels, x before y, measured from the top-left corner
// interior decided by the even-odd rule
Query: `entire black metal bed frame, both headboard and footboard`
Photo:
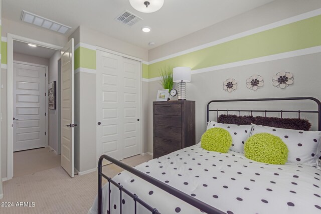
[[[246,102],[246,101],[284,101],[284,100],[312,100],[314,102],[316,102],[317,104],[317,111],[301,111],[301,110],[297,110],[297,111],[293,111],[293,110],[223,110],[223,109],[210,109],[210,104],[211,103],[215,103],[215,102]],[[227,112],[227,114],[229,113],[229,111],[231,112],[238,112],[238,114],[240,115],[240,112],[251,112],[251,115],[253,114],[253,112],[263,112],[266,113],[267,112],[279,112],[281,113],[281,118],[282,118],[282,113],[286,112],[286,113],[298,113],[298,118],[300,118],[300,113],[317,113],[318,114],[318,130],[321,131],[321,102],[313,97],[289,97],[289,98],[260,98],[260,99],[233,99],[233,100],[212,100],[207,104],[207,122],[209,122],[209,113],[211,111],[216,111],[217,112],[217,116],[219,114],[220,111],[225,111]],[[123,168],[124,170],[144,179],[145,181],[157,186],[158,188],[163,189],[164,191],[180,198],[181,200],[191,204],[192,206],[206,212],[206,213],[210,213],[210,214],[223,214],[225,212],[210,206],[207,203],[204,203],[201,200],[198,200],[170,185],[167,185],[131,166],[128,166],[110,156],[107,155],[101,155],[98,161],[98,204],[97,204],[97,208],[98,208],[98,213],[101,214],[103,212],[102,208],[102,177],[104,177],[105,179],[107,179],[108,181],[108,214],[111,214],[111,206],[110,206],[110,196],[111,196],[111,191],[110,191],[110,184],[115,185],[118,189],[119,189],[119,194],[120,194],[120,200],[119,200],[119,205],[120,205],[120,213],[122,213],[122,192],[127,194],[128,196],[130,196],[133,200],[134,200],[134,213],[137,214],[137,202],[139,204],[141,204],[142,206],[144,206],[147,210],[149,210],[151,213],[153,214],[160,214],[160,212],[156,209],[151,207],[149,204],[147,204],[146,202],[144,202],[142,199],[140,199],[136,194],[131,193],[129,190],[127,190],[126,188],[124,188],[122,185],[118,184],[117,182],[115,182],[114,180],[112,180],[111,177],[108,177],[107,175],[102,173],[102,162],[103,159],[106,159],[108,161],[110,161],[111,163],[114,163],[115,165]]]

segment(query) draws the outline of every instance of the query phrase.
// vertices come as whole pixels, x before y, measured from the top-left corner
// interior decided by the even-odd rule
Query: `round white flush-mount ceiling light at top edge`
[[[131,7],[142,13],[153,13],[161,9],[164,0],[129,0]]]

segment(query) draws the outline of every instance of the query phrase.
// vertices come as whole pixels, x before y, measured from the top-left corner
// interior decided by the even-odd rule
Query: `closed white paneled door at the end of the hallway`
[[[14,63],[14,151],[46,146],[46,68]]]

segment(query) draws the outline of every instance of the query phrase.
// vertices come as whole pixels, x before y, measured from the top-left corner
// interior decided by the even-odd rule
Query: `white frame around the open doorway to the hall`
[[[55,49],[60,51],[61,46],[41,42],[38,40],[7,34],[7,179],[12,179],[14,176],[14,40],[25,43],[32,43],[45,48]],[[48,78],[48,75],[47,75]],[[47,86],[48,88],[48,86]],[[47,114],[48,115],[48,114]],[[47,119],[48,121],[48,119]],[[48,136],[48,135],[47,135]]]

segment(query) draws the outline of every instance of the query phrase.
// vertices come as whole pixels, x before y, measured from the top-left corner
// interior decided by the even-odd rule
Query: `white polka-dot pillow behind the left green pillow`
[[[234,125],[218,123],[215,121],[208,122],[207,129],[210,128],[224,128],[232,137],[231,150],[239,153],[244,153],[244,143],[250,137],[252,126],[251,125]]]

